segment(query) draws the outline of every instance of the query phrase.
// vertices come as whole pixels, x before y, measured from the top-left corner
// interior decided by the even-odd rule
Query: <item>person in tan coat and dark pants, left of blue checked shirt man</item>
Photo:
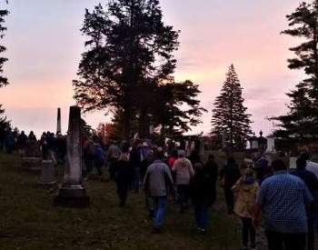
[[[253,170],[246,168],[242,177],[232,187],[235,196],[234,212],[242,219],[243,249],[247,250],[248,235],[251,237],[252,250],[255,246],[255,228],[252,224],[253,206],[259,185],[253,176]]]

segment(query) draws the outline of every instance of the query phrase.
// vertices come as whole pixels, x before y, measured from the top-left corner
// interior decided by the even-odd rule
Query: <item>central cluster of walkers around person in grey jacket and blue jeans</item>
[[[154,233],[160,233],[168,195],[178,203],[181,214],[188,209],[191,200],[196,228],[200,234],[205,233],[208,208],[216,197],[218,169],[213,155],[204,164],[195,151],[188,157],[182,149],[167,155],[163,147],[149,147],[140,141],[131,147],[123,145],[117,159],[112,153],[114,148],[109,146],[106,157],[110,174],[114,172],[119,206],[125,205],[129,189],[137,192],[143,187],[145,204],[154,221]]]

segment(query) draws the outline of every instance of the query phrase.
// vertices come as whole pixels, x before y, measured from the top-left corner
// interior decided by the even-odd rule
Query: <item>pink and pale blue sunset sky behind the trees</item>
[[[13,126],[35,135],[56,131],[57,108],[62,111],[62,133],[67,131],[69,106],[75,105],[72,80],[84,52],[80,28],[84,9],[107,1],[9,0],[7,31],[1,41],[7,48],[4,76],[10,85],[0,89],[0,104]],[[303,79],[290,70],[288,50],[298,45],[281,35],[288,28],[285,15],[300,0],[161,0],[164,24],[180,30],[175,80],[199,85],[201,105],[208,110],[203,123],[190,134],[211,130],[211,110],[231,64],[243,87],[244,105],[253,120],[253,132],[269,135],[273,123],[266,117],[287,112],[286,93]],[[96,128],[110,122],[103,113],[82,115]]]

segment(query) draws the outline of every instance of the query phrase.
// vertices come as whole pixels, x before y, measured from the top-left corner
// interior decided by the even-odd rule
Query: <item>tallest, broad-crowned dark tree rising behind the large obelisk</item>
[[[112,0],[87,9],[81,29],[87,51],[73,81],[84,111],[120,115],[123,138],[135,115],[145,115],[143,95],[173,81],[178,32],[164,25],[158,0]],[[155,101],[155,100],[153,100]]]

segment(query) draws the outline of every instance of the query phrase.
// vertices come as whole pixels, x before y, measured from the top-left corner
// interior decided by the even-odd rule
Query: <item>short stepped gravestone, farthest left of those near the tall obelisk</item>
[[[20,168],[40,171],[42,166],[41,155],[40,143],[38,141],[26,141],[25,156],[20,159]]]

